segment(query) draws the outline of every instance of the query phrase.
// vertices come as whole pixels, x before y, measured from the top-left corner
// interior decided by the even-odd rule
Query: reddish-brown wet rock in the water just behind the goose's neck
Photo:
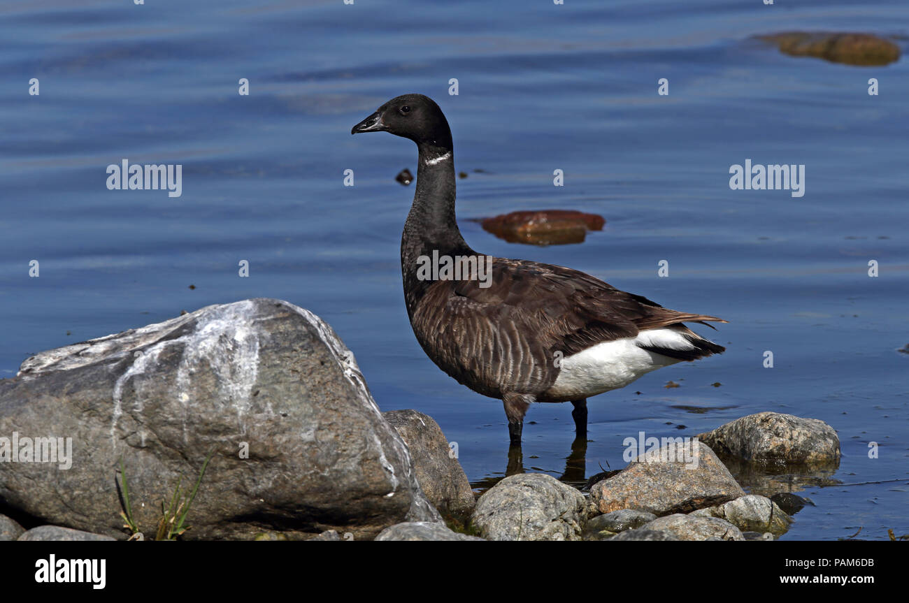
[[[602,231],[606,221],[594,213],[573,210],[512,212],[484,218],[483,230],[507,242],[563,245],[584,242],[587,231]]]

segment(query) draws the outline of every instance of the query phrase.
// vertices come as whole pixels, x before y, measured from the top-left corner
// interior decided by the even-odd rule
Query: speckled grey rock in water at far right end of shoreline
[[[823,420],[758,412],[697,438],[718,454],[761,464],[825,464],[840,460],[840,440]]]

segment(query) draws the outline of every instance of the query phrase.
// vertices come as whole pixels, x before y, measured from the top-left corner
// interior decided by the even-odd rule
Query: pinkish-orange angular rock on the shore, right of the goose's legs
[[[692,455],[692,450],[697,453]],[[641,455],[621,473],[590,489],[590,499],[601,513],[618,509],[637,509],[656,516],[686,513],[744,495],[729,470],[703,442],[697,442],[696,449],[680,441],[667,442],[658,457],[647,461],[651,454]],[[695,463],[696,467],[686,469]]]

